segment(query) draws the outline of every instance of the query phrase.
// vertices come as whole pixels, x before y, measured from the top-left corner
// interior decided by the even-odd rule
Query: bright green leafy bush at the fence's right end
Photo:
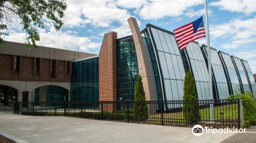
[[[256,125],[256,101],[254,101],[252,93],[250,91],[245,91],[245,93],[243,94],[241,91],[236,91],[236,94],[230,95],[228,97],[228,99],[238,98],[240,98],[243,102],[243,127],[247,128],[249,126]]]

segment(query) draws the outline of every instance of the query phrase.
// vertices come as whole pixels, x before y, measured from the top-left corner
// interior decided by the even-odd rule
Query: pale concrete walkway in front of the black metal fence
[[[11,113],[0,108],[0,130],[27,142],[221,142],[233,135],[197,137],[191,128]]]

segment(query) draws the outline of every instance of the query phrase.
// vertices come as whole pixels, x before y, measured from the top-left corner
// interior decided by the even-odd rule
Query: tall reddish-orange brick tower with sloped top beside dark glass
[[[101,45],[99,54],[99,101],[117,100],[116,38],[117,33],[115,32],[105,34]]]

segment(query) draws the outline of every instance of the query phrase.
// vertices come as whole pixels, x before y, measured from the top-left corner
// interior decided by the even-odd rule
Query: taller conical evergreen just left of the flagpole
[[[185,103],[182,107],[184,118],[191,123],[195,123],[196,118],[197,120],[200,119],[200,114],[195,80],[190,69],[188,69],[188,72],[185,75],[183,100]]]

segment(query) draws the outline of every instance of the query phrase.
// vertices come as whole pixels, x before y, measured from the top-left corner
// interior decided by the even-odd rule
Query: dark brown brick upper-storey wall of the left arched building
[[[14,71],[14,56],[0,54],[0,80],[19,80],[19,81],[42,81],[42,82],[70,82],[71,81],[71,62],[69,74],[67,74],[67,62],[57,60],[55,67],[55,78],[51,78],[51,59],[39,59],[39,72],[35,73],[34,57],[19,56],[19,70]]]

